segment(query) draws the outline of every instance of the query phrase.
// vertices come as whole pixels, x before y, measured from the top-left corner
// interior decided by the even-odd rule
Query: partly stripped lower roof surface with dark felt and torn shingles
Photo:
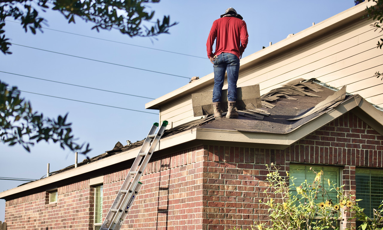
[[[345,99],[353,97],[352,95],[346,95],[345,89],[339,92],[336,92],[336,90],[334,88],[331,89],[331,87],[324,87],[323,83],[315,79],[297,79],[262,95],[262,108],[260,109],[239,111],[237,119],[223,117],[222,119],[215,120],[213,115],[208,115],[207,117],[167,129],[162,138],[196,127],[270,134],[288,133],[324,113],[327,109],[337,106]],[[337,94],[340,94],[340,97]],[[297,117],[300,119],[296,119]],[[85,159],[78,164],[78,167],[120,152],[135,149],[142,146],[143,142],[144,140],[137,141],[126,146],[117,142],[112,150],[96,157]],[[64,169],[52,172],[50,175],[59,174],[73,168],[74,165],[70,165]]]

